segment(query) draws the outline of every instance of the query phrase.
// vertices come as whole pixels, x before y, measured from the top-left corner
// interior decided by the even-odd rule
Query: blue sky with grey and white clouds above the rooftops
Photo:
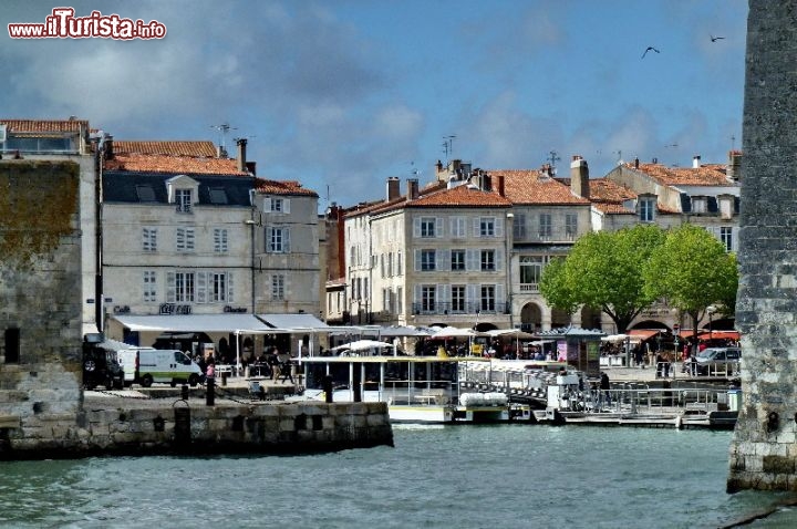
[[[58,7],[166,35],[9,37]],[[230,153],[246,137],[258,176],[321,210],[429,183],[437,160],[567,176],[580,155],[600,177],[742,145],[746,0],[3,0],[0,21],[0,117]]]

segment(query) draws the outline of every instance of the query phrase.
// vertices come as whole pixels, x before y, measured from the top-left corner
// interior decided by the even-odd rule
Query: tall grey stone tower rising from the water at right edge
[[[797,6],[749,0],[729,492],[797,490]]]

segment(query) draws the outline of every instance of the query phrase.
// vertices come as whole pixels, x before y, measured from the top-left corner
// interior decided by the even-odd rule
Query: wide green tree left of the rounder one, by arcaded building
[[[664,231],[654,225],[588,234],[561,268],[546,267],[540,292],[550,305],[570,313],[579,304],[599,309],[624,332],[656,299],[644,290],[642,270],[663,240]]]

